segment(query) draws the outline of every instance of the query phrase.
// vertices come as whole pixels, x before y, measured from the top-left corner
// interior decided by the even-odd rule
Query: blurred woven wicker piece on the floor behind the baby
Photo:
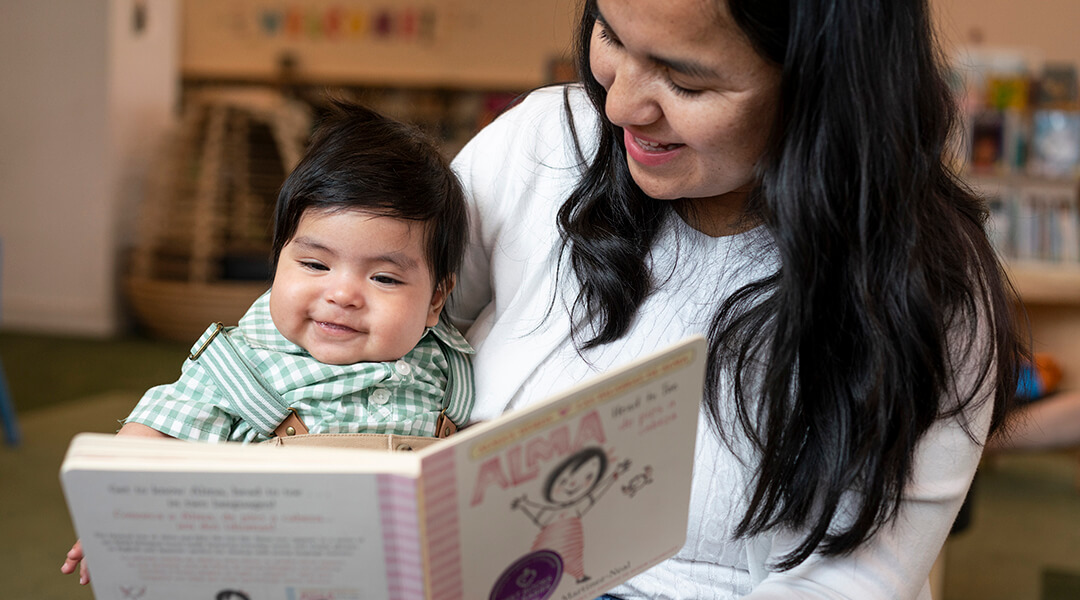
[[[272,91],[187,99],[151,174],[124,286],[149,332],[194,341],[267,289],[274,202],[310,128],[309,108]]]

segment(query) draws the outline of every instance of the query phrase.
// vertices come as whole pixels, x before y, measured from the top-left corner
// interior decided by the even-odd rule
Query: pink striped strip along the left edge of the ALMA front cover
[[[423,462],[420,485],[431,600],[463,600],[458,481],[454,449]]]

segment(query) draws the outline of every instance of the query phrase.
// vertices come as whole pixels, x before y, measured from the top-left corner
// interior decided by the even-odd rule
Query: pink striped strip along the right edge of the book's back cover
[[[418,482],[399,475],[377,481],[390,600],[423,600]]]

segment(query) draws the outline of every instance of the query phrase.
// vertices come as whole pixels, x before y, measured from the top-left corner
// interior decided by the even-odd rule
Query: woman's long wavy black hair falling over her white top
[[[791,569],[849,553],[889,522],[923,434],[943,418],[967,424],[990,388],[996,431],[1023,347],[984,204],[947,164],[954,108],[926,0],[727,1],[783,73],[746,207],[780,269],[716,308],[705,406],[721,435],[741,427],[758,453],[737,533],[806,531],[775,565]],[[603,114],[589,69],[596,14],[588,0],[578,66]],[[652,290],[646,257],[671,209],[633,182],[621,132],[600,121],[595,159],[558,215],[583,349],[626,332]],[[963,385],[961,365],[976,366]],[[731,401],[739,423],[721,420]],[[841,497],[856,499],[842,523]]]

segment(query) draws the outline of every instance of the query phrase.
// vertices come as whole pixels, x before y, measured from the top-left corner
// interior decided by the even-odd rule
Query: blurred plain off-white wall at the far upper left
[[[147,0],[141,33],[132,29],[138,1],[4,0],[0,9],[5,328],[120,327],[119,226],[178,87],[176,0]]]

